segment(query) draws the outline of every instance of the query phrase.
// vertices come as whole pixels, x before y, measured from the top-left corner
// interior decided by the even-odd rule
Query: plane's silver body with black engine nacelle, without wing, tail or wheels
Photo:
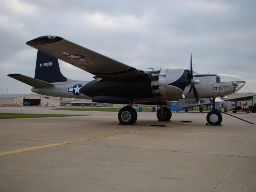
[[[95,96],[120,97],[133,99],[134,102],[172,101],[182,98],[188,84],[188,69],[161,69],[146,72],[148,76],[137,80],[102,80],[52,83],[48,88],[32,88],[32,92],[67,98],[92,99]],[[196,90],[200,98],[214,98],[237,92],[244,86],[245,80],[239,76],[227,74],[194,74],[199,80]],[[137,82],[137,83],[136,83]],[[101,90],[104,88],[104,90]],[[186,98],[194,98],[193,90]],[[114,102],[113,102],[114,103]]]

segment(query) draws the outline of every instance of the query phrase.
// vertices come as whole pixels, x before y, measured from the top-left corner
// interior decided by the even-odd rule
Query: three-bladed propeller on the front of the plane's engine
[[[197,85],[200,83],[200,80],[193,79],[193,67],[192,67],[192,51],[190,49],[190,82],[189,84],[184,88],[182,97],[185,98],[193,89],[193,93],[194,93],[194,97],[196,99],[196,102],[198,102],[198,104],[200,104],[200,100],[199,100],[199,96],[198,96],[198,92],[196,90],[196,87],[194,85]]]

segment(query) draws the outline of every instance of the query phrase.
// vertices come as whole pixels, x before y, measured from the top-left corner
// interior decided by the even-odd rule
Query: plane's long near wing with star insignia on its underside
[[[102,79],[132,78],[146,74],[58,36],[42,36],[26,44]]]

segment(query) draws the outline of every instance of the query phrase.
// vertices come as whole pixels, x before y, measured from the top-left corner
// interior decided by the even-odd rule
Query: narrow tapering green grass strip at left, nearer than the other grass
[[[72,117],[72,116],[84,116],[84,115],[0,113],[0,119],[42,118],[42,117]]]

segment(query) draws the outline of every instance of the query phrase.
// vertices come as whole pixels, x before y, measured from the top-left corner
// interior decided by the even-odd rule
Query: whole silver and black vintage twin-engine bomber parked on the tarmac
[[[215,109],[215,98],[235,93],[246,83],[235,75],[194,72],[191,50],[190,69],[142,71],[59,36],[41,36],[26,44],[38,49],[34,78],[22,74],[8,74],[9,77],[32,86],[32,92],[42,95],[124,104],[118,112],[118,120],[124,125],[137,121],[132,104],[158,105],[158,121],[170,121],[172,112],[166,107],[168,101],[177,101],[179,107],[212,104],[206,120],[210,125],[219,125],[222,115]],[[93,74],[94,80],[66,78],[60,72],[58,59]]]

